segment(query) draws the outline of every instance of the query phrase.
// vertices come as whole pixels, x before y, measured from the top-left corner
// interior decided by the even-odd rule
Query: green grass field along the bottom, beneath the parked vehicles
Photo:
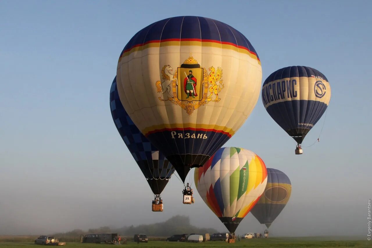
[[[129,241],[122,244],[125,247],[372,247],[372,241],[348,240],[348,241],[327,241],[318,238],[267,238],[267,239],[248,239],[237,241],[235,244],[227,244],[222,241],[207,241],[204,243],[185,243],[185,242],[165,242],[149,241],[137,244]],[[32,242],[0,242],[0,248],[5,247],[39,247]],[[108,247],[106,244],[81,244],[78,242],[67,242],[66,247],[100,248]]]

